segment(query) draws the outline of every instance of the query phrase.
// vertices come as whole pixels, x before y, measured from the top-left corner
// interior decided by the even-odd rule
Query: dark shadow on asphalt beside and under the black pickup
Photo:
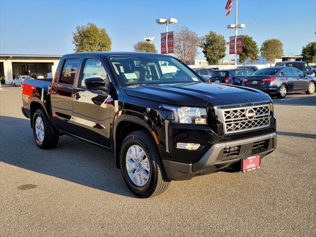
[[[136,198],[125,186],[113,154],[65,135],[56,148],[42,150],[35,144],[29,119],[0,116],[0,161]]]

